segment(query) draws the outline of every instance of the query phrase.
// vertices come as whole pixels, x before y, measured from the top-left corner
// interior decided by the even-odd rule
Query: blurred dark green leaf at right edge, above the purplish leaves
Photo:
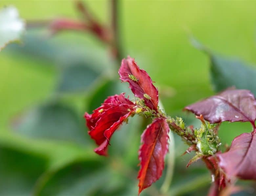
[[[210,76],[214,90],[222,91],[234,86],[237,89],[251,90],[256,95],[255,66],[249,66],[236,58],[217,55],[195,39],[192,39],[192,43],[210,58]]]

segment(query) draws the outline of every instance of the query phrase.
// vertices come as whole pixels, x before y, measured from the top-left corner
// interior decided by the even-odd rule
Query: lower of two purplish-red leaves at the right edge
[[[254,132],[237,136],[232,141],[228,152],[217,155],[219,165],[227,175],[256,180],[256,138]]]

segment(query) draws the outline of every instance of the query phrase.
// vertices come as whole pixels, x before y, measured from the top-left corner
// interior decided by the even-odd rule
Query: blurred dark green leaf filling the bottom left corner
[[[0,195],[31,195],[46,169],[43,157],[0,147]]]

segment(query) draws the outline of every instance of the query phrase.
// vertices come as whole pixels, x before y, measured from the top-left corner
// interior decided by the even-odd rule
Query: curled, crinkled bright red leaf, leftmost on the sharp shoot
[[[97,154],[107,155],[107,146],[112,134],[123,121],[134,114],[134,106],[122,93],[108,97],[93,114],[85,113],[89,135],[99,145],[95,149]]]

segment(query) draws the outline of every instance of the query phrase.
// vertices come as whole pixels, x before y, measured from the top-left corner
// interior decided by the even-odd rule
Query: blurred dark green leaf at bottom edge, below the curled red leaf
[[[110,172],[98,162],[74,163],[56,172],[39,195],[91,195],[109,179]]]

